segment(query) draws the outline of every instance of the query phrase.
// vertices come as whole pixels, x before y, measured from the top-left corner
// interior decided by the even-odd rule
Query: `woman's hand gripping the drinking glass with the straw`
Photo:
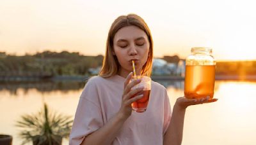
[[[133,86],[135,86],[141,82],[141,79],[136,79],[136,80],[130,82],[131,78],[132,78],[132,72],[130,72],[125,79],[124,93],[122,95],[122,104],[121,104],[120,110],[118,111],[118,114],[120,114],[120,116],[122,116],[122,118],[125,120],[129,116],[131,116],[132,102],[134,102],[138,99],[141,99],[143,97],[143,94],[133,97],[134,95],[136,95],[136,93],[141,92],[143,90],[143,87],[135,88],[135,89],[131,90],[131,88]]]

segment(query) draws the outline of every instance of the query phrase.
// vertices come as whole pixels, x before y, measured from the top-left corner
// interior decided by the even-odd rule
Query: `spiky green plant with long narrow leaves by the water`
[[[19,136],[24,139],[22,144],[33,141],[33,144],[61,144],[67,138],[72,122],[70,116],[50,112],[47,104],[36,114],[22,115],[16,126],[22,128]]]

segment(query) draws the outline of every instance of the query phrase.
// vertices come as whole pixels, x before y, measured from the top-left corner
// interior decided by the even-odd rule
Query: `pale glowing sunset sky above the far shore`
[[[136,13],[152,31],[155,57],[185,58],[191,47],[205,46],[213,49],[217,60],[256,60],[255,3],[0,0],[0,52],[104,55],[113,20]]]

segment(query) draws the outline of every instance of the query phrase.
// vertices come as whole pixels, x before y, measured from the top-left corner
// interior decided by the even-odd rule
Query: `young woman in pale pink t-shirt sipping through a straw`
[[[216,99],[180,97],[171,111],[166,88],[152,81],[147,111],[132,111],[132,60],[138,75],[150,76],[153,41],[147,24],[138,15],[116,18],[111,25],[106,55],[99,76],[88,80],[79,99],[70,144],[158,145],[181,144],[186,107]]]

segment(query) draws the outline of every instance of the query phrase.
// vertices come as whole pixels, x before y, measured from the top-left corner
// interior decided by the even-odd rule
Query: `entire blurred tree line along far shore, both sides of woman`
[[[76,76],[90,75],[90,68],[102,66],[103,55],[84,56],[79,52],[38,52],[34,55],[7,55],[0,52],[0,76]],[[160,58],[179,63],[179,56]],[[217,75],[255,75],[256,61],[217,62]]]

